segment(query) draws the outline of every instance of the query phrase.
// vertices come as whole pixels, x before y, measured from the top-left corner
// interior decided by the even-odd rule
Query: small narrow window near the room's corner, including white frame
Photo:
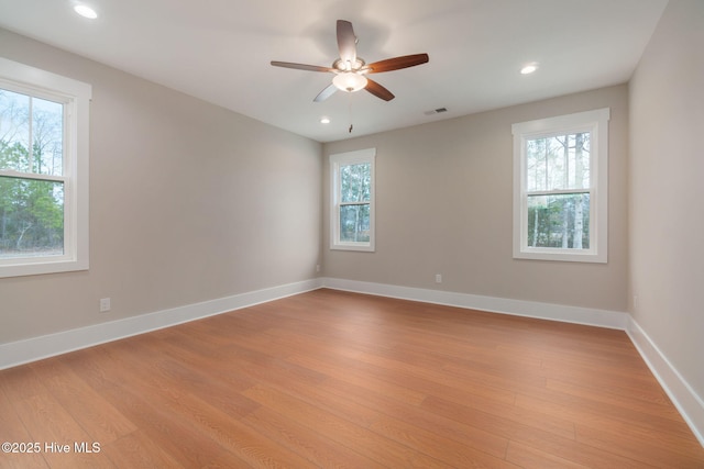
[[[330,155],[330,248],[374,250],[376,149]]]

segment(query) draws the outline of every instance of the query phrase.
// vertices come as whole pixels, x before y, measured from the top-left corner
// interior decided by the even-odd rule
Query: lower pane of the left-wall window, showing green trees
[[[64,185],[0,177],[0,258],[64,254]]]

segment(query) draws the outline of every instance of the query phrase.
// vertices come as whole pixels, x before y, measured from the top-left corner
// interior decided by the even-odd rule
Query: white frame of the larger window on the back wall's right
[[[608,260],[608,108],[514,124],[514,258],[606,263]],[[528,246],[526,146],[529,139],[588,132],[590,248]],[[549,191],[548,194],[572,191]]]

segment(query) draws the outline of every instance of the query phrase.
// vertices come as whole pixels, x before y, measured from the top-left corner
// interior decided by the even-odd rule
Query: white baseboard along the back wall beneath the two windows
[[[595,310],[591,308],[566,306],[534,301],[509,300],[505,298],[482,297],[469,293],[454,293],[441,290],[399,287],[383,283],[370,283],[356,280],[323,278],[322,287],[380,297],[444,304],[491,313],[536,317],[563,323],[585,324],[606,328],[626,330],[629,315],[618,311]]]

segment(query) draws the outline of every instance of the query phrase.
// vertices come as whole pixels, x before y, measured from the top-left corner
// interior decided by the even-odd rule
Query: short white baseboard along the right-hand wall
[[[640,325],[629,316],[626,333],[694,436],[704,446],[704,400],[700,398]]]

